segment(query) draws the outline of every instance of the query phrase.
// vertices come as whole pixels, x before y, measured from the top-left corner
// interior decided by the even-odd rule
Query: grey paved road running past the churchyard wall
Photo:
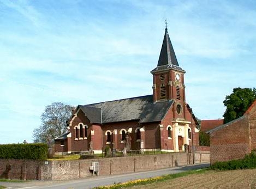
[[[33,188],[33,189],[87,189],[97,186],[110,185],[128,180],[145,179],[165,174],[175,174],[186,170],[209,167],[210,163],[195,164],[192,166],[174,167],[167,169],[151,170],[122,175],[96,176],[93,178],[77,179],[69,181],[30,181],[30,182],[0,182],[0,185],[8,188]]]

